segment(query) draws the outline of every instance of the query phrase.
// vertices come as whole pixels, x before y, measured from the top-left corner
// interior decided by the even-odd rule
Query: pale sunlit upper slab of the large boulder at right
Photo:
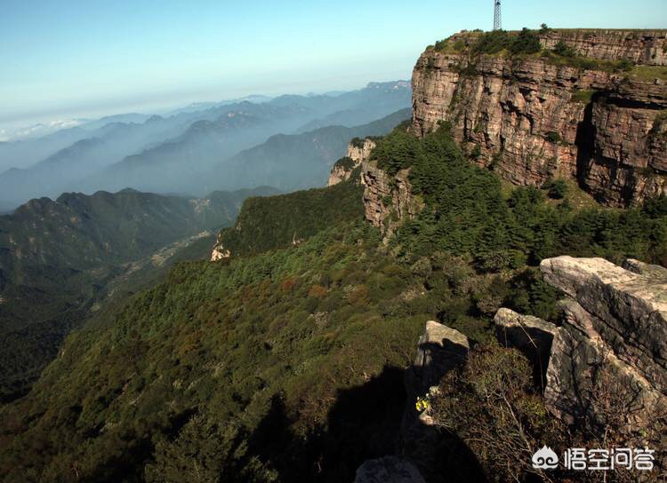
[[[570,325],[599,337],[619,360],[665,392],[667,277],[655,266],[636,261],[626,266],[635,271],[603,258],[556,257],[542,261],[540,268],[545,281],[579,305],[565,306]]]

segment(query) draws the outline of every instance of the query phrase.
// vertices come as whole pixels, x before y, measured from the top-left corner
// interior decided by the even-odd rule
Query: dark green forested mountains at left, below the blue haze
[[[245,198],[275,193],[264,187],[199,200],[133,190],[69,193],[0,217],[0,340],[8,342],[0,346],[0,400],[23,392],[69,330],[100,309],[108,286],[137,271],[142,258],[229,226]],[[125,281],[120,289],[132,288]]]

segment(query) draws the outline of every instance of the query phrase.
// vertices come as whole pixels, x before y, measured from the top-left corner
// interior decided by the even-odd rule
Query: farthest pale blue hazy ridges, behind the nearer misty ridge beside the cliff
[[[253,96],[197,104],[167,116],[112,115],[44,138],[0,143],[0,200],[16,206],[65,191],[125,187],[205,194],[201,185],[187,181],[273,135],[369,123],[409,107],[411,96],[404,81],[335,95],[285,95],[264,102]],[[258,185],[252,179],[248,185],[231,181],[224,186]]]

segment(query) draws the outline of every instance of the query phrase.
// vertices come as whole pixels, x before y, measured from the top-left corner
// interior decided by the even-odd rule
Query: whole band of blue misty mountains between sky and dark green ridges
[[[205,196],[219,190],[324,186],[354,136],[409,116],[406,82],[324,95],[253,96],[167,115],[119,114],[0,143],[0,212],[67,192],[133,188]],[[382,121],[384,119],[384,121]]]

